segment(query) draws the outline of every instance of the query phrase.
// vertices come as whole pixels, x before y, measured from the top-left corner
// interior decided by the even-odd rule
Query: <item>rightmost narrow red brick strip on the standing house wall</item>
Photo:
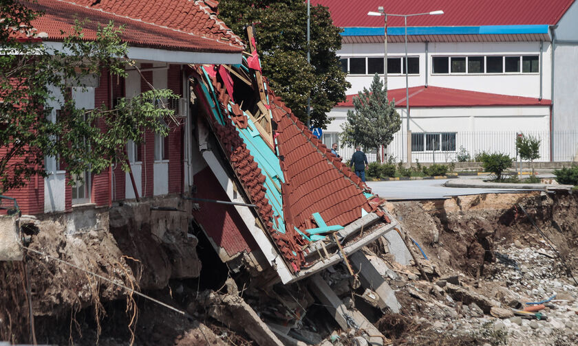
[[[182,97],[182,74],[180,65],[170,65],[168,73],[168,86],[175,94]],[[179,126],[171,126],[169,133],[169,194],[182,192],[183,179],[183,130],[184,123]]]

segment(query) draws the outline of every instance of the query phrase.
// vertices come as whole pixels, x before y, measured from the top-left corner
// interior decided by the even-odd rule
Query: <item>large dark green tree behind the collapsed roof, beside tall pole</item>
[[[345,100],[345,90],[351,86],[336,55],[341,29],[333,25],[328,8],[311,7],[310,65],[305,1],[222,0],[219,18],[237,34],[255,23],[257,52],[271,87],[305,123],[310,94],[311,125],[325,128],[331,120],[325,113]]]

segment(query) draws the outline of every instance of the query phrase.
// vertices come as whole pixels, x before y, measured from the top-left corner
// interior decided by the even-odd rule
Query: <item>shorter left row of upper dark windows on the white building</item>
[[[383,58],[341,58],[341,71],[350,75],[383,74]],[[407,57],[407,73],[420,73],[420,58]],[[405,74],[405,57],[387,58],[387,74]]]

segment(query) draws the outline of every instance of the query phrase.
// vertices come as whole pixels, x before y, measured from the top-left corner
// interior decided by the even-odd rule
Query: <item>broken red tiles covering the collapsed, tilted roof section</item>
[[[226,88],[219,80],[220,76],[215,73],[209,75],[209,78],[207,82],[215,91],[221,113],[228,115],[235,125],[225,122],[222,126],[217,119],[211,117],[213,112],[206,99],[207,95],[200,87],[202,82],[195,84],[195,94],[199,96],[200,107],[209,115],[226,159],[233,166],[250,201],[257,205],[259,217],[264,221],[266,230],[277,245],[279,253],[292,264],[292,270],[297,271],[306,263],[303,245],[308,243],[294,227],[303,233],[306,233],[306,229],[314,228],[312,217],[314,213],[320,213],[328,225],[346,226],[361,218],[361,209],[367,212],[374,211],[389,222],[385,213],[378,209],[383,200],[379,198],[367,200],[363,194],[366,187],[361,179],[341,163],[330,149],[326,148],[291,113],[290,108],[286,107],[280,97],[276,97],[270,88],[266,88],[269,93],[272,122],[277,125],[279,164],[285,181],[281,185],[285,233],[275,230],[272,205],[266,198],[264,185],[266,177],[235,127],[246,128],[246,116],[236,104],[233,104]],[[230,104],[233,104],[231,112],[227,111],[225,106]]]

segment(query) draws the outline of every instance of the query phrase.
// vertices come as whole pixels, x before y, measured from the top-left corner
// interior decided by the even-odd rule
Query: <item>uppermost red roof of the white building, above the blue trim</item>
[[[313,0],[328,6],[339,27],[383,27],[383,18],[367,16],[383,6],[392,14],[443,10],[443,15],[415,16],[408,26],[532,25],[558,23],[574,0]],[[403,18],[387,17],[390,27],[403,26]]]

